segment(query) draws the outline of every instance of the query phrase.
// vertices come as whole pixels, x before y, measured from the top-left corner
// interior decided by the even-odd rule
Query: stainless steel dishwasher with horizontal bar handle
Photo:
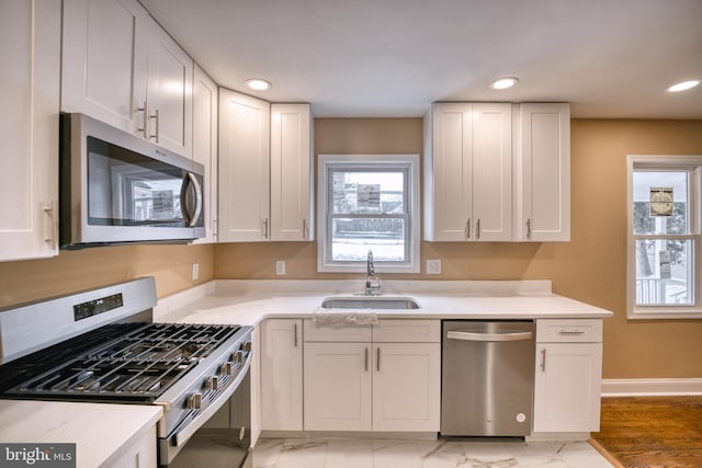
[[[531,434],[533,321],[444,321],[441,435]]]

